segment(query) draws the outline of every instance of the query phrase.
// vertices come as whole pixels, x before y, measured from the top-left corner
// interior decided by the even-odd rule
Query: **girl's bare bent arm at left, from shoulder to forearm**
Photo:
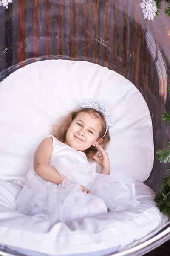
[[[53,152],[53,139],[51,137],[42,140],[34,154],[34,170],[44,180],[51,181],[57,185],[62,183],[62,176],[57,169],[49,164]]]

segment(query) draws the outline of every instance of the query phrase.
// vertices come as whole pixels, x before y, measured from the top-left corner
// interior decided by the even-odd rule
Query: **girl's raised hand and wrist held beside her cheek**
[[[98,144],[96,144],[96,148],[102,156],[102,158],[94,156],[94,159],[102,166],[102,172],[101,173],[110,174],[111,166],[110,166],[110,162],[109,162],[108,153],[106,153],[106,151],[101,146],[99,146]]]

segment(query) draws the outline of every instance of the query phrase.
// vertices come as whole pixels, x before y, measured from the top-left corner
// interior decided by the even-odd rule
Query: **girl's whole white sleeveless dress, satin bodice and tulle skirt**
[[[43,180],[31,169],[17,198],[17,211],[54,224],[138,204],[134,198],[133,180],[123,174],[96,173],[96,163],[89,163],[84,152],[65,145],[52,135],[49,137],[53,139],[50,165],[64,180],[57,185]],[[80,185],[90,189],[92,194],[83,193]]]

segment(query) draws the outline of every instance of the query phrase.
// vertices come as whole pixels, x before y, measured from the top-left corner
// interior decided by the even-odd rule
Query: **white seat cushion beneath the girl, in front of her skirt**
[[[164,223],[164,216],[153,201],[153,191],[140,181],[136,182],[138,207],[53,226],[14,210],[20,186],[0,180],[0,188],[0,244],[40,253],[64,255],[132,246]]]

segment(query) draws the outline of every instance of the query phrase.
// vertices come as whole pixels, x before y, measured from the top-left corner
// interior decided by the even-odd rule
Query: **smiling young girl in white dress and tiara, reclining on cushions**
[[[53,135],[42,140],[34,169],[17,198],[17,210],[34,218],[71,221],[136,204],[135,186],[125,175],[111,175],[108,126],[111,113],[99,102],[72,111]],[[102,166],[96,173],[96,163]]]

